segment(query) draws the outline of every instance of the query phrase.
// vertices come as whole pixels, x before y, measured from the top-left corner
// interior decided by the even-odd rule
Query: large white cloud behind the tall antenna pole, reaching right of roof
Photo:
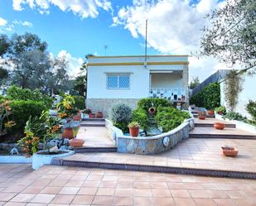
[[[133,6],[121,7],[113,26],[123,26],[134,38],[145,38],[145,20],[148,19],[147,40],[149,46],[161,54],[191,55],[199,49],[200,29],[207,25],[205,14],[224,2],[200,0],[190,5],[189,0],[133,0]],[[223,66],[223,65],[221,65]],[[208,77],[219,62],[210,57],[191,58],[192,76]],[[222,68],[220,68],[222,69]]]

